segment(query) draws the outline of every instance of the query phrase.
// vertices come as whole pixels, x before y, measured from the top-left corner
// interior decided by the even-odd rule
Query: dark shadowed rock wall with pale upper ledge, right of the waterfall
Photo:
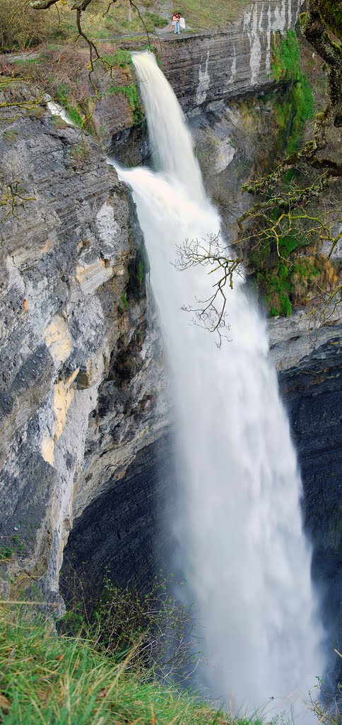
[[[341,421],[342,323],[310,328],[302,312],[269,325],[270,355],[278,370],[283,401],[303,481],[305,528],[312,542],[312,576],[322,608],[328,674],[341,678]],[[338,668],[340,673],[338,674]]]

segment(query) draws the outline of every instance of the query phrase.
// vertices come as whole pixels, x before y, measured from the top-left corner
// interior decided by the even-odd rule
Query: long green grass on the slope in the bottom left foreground
[[[0,721],[4,725],[249,725],[232,721],[153,675],[129,672],[85,639],[0,608]],[[261,725],[255,720],[253,725]]]

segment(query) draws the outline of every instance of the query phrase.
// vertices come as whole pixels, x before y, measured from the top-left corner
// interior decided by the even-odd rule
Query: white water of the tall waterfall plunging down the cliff
[[[220,702],[277,711],[299,702],[322,671],[320,628],[302,533],[301,481],[265,321],[236,278],[228,336],[218,349],[182,305],[210,297],[201,266],[171,262],[185,239],[208,239],[219,218],[205,197],[192,142],[152,54],[134,54],[158,172],[119,170],[134,191],[161,315],[176,402],[181,492],[176,535],[181,568],[200,612],[208,667]],[[296,695],[293,698],[293,695]],[[297,705],[296,705],[297,706]],[[296,713],[295,713],[295,716]]]

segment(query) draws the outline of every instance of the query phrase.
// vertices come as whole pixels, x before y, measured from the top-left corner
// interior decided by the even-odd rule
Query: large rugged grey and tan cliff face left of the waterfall
[[[105,157],[48,115],[9,125],[1,157],[2,188],[20,180],[27,199],[0,229],[1,573],[5,594],[41,576],[51,593],[74,515],[166,424],[163,361]]]

